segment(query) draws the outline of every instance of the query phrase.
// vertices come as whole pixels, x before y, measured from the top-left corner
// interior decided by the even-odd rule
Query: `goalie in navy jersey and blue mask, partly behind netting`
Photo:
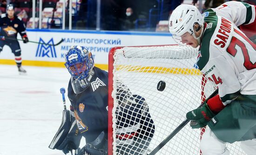
[[[61,127],[49,148],[67,154],[79,148],[84,136],[86,145],[77,151],[77,155],[107,155],[108,73],[94,67],[91,52],[81,46],[71,46],[65,60],[72,75],[67,94],[71,106],[63,115]],[[122,117],[117,117],[116,137],[120,144],[117,151],[121,155],[144,155],[155,132],[148,105],[144,98],[131,94],[121,82],[119,86],[117,98],[120,102],[116,113]],[[128,114],[132,119],[124,117]]]

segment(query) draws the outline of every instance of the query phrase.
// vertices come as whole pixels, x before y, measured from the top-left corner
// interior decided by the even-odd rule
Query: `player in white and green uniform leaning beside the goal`
[[[238,28],[256,32],[256,6],[229,1],[201,14],[195,6],[178,6],[169,31],[182,45],[200,47],[197,66],[219,93],[187,113],[192,128],[208,125],[203,155],[229,155],[226,143],[241,141],[247,155],[256,154],[256,44]]]

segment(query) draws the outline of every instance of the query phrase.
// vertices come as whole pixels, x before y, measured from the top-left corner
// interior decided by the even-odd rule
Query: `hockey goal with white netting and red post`
[[[216,86],[204,79],[196,68],[197,56],[198,49],[179,45],[115,47],[110,50],[108,57],[108,155],[150,153],[186,119],[187,112],[197,108],[214,92]],[[157,90],[159,81],[166,83],[163,91]],[[143,146],[145,143],[141,141],[134,144],[139,138],[129,139],[134,134],[131,130],[120,132],[119,124],[129,126],[127,123],[133,120],[128,120],[132,118],[128,116],[129,113],[117,116],[120,114],[119,107],[126,107],[125,104],[128,103],[117,96],[119,95],[117,89],[126,89],[127,93],[140,95],[148,104],[148,111],[155,124],[155,133],[148,147]],[[135,111],[132,113],[133,116],[140,116],[140,114],[135,114]],[[124,116],[126,118],[122,118]],[[118,117],[125,122],[117,123]],[[140,116],[138,119],[141,120],[143,117]],[[137,131],[141,134],[141,129]],[[117,132],[118,134],[125,133],[126,136],[116,136]],[[156,155],[200,155],[201,134],[200,129],[193,130],[187,124]],[[134,145],[134,152],[131,153],[129,148],[132,145]],[[135,149],[138,146],[142,149]],[[228,144],[227,147],[230,155],[245,155],[240,149],[239,142]],[[117,148],[123,151],[117,151]]]

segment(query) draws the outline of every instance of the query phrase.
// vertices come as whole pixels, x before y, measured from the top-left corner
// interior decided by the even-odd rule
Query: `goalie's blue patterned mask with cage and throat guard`
[[[94,75],[92,53],[82,46],[71,46],[65,55],[65,66],[71,74],[71,85],[74,93],[83,92],[90,85]]]

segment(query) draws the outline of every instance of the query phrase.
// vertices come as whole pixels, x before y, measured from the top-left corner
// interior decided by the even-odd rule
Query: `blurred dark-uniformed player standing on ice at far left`
[[[23,43],[28,42],[26,26],[22,19],[14,15],[14,6],[7,5],[7,13],[1,14],[0,17],[0,52],[5,45],[9,46],[15,56],[15,62],[20,73],[26,73],[26,70],[21,67],[21,50],[20,44],[16,40],[18,32],[23,39]]]

